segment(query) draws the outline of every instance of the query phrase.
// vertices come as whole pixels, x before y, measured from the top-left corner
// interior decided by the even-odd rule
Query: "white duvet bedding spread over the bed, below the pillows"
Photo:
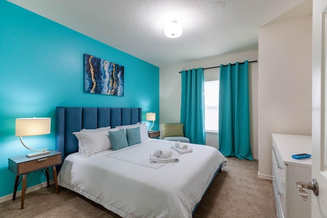
[[[174,143],[148,139],[90,157],[68,155],[58,184],[122,217],[192,217],[192,210],[226,159],[215,148],[188,143],[193,152],[173,151],[179,162],[150,163],[152,152],[171,149]]]

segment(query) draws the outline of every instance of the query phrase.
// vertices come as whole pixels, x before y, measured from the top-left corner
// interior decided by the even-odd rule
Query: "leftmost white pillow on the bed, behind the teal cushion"
[[[112,149],[108,131],[118,131],[118,128],[113,128],[103,131],[80,131],[73,132],[78,139],[79,152],[84,157],[89,157],[98,152]]]

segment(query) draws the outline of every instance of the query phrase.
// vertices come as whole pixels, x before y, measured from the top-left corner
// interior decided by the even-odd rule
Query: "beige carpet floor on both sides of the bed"
[[[259,179],[258,161],[227,158],[193,217],[276,217],[271,181]],[[42,188],[0,204],[0,217],[120,217],[77,193],[60,187]],[[180,217],[183,218],[183,217]]]

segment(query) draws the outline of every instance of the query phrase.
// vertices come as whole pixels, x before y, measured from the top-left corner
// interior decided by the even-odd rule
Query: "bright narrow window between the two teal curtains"
[[[218,132],[219,80],[204,82],[205,131]]]

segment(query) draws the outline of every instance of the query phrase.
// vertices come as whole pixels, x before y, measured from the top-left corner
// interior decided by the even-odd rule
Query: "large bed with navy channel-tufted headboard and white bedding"
[[[192,217],[226,162],[217,149],[189,143],[193,152],[174,151],[178,162],[150,163],[152,152],[169,150],[175,142],[149,138],[88,157],[79,152],[73,132],[137,125],[141,108],[57,107],[56,121],[56,146],[63,157],[58,184],[122,217]]]

